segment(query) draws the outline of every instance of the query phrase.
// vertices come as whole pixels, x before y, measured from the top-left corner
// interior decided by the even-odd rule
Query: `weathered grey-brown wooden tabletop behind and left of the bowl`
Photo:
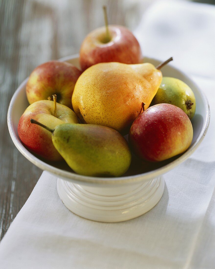
[[[42,173],[10,138],[10,99],[37,65],[79,52],[86,34],[104,25],[104,4],[110,24],[135,28],[138,1],[0,0],[0,240]]]

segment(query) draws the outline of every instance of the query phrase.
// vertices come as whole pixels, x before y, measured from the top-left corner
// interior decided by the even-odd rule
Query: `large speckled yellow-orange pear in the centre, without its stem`
[[[128,133],[157,93],[162,73],[151,63],[98,63],[86,69],[75,84],[72,105],[80,121]]]

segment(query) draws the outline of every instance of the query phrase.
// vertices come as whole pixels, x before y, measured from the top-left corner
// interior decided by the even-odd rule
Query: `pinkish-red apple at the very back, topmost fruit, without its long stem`
[[[82,71],[101,62],[140,63],[142,52],[135,36],[125,27],[109,25],[111,41],[103,43],[106,29],[100,27],[89,33],[80,48]]]

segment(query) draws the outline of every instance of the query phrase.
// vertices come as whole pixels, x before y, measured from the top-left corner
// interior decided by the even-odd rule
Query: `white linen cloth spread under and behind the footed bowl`
[[[214,25],[214,6],[158,1],[135,31],[145,55],[174,56],[211,108],[205,140],[164,175],[158,204],[122,223],[85,220],[64,206],[56,178],[43,172],[0,243],[0,268],[215,267]]]

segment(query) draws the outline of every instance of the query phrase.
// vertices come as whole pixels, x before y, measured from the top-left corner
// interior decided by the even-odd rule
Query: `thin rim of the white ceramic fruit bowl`
[[[69,60],[72,60],[72,59],[75,59],[78,57],[79,57],[79,54],[74,54],[71,56],[66,56],[64,58],[61,58],[58,61],[69,61]],[[146,56],[146,58],[148,58],[152,61],[153,60],[159,61],[157,59],[150,58],[147,56]],[[152,171],[145,172],[142,174],[137,174],[137,175],[132,175],[132,176],[115,177],[115,178],[107,178],[107,177],[93,177],[93,176],[79,175],[79,174],[76,174],[74,172],[69,172],[69,171],[65,171],[65,170],[62,170],[62,169],[57,168],[57,167],[53,167],[52,165],[47,164],[46,162],[38,159],[36,156],[34,156],[32,153],[30,153],[30,151],[28,151],[23,146],[21,141],[17,138],[17,136],[15,134],[15,130],[13,129],[12,118],[11,118],[14,102],[17,98],[17,95],[22,90],[23,86],[27,83],[28,77],[20,84],[20,86],[17,88],[17,90],[13,94],[12,99],[11,99],[10,104],[9,104],[9,108],[8,108],[8,114],[7,114],[8,129],[9,129],[10,136],[13,140],[13,143],[15,144],[17,149],[20,151],[20,153],[22,153],[22,155],[27,158],[27,160],[32,162],[34,165],[36,165],[40,169],[51,172],[55,176],[58,176],[62,179],[70,180],[70,181],[73,181],[76,183],[85,182],[85,183],[117,185],[117,184],[122,184],[122,183],[148,181],[152,178],[156,178],[157,176],[163,175],[164,173],[168,172],[170,169],[176,167],[177,165],[179,165],[183,161],[185,161],[198,148],[198,146],[200,145],[200,143],[202,142],[202,140],[204,139],[204,137],[207,133],[207,130],[209,127],[209,122],[210,122],[210,108],[209,108],[209,104],[208,104],[208,101],[207,101],[205,94],[199,89],[199,87],[196,85],[196,83],[193,82],[193,80],[189,76],[187,76],[184,72],[175,68],[171,64],[169,64],[169,66],[172,69],[174,69],[175,71],[180,72],[182,75],[186,76],[189,80],[192,81],[192,83],[195,85],[195,87],[199,90],[199,93],[202,97],[203,102],[206,104],[206,109],[207,109],[206,121],[205,121],[204,126],[203,126],[198,138],[196,139],[195,143],[187,151],[185,151],[184,154],[182,154],[181,156],[179,156],[177,159],[170,162],[169,164],[166,164],[160,168],[157,168],[157,169],[154,169]]]

